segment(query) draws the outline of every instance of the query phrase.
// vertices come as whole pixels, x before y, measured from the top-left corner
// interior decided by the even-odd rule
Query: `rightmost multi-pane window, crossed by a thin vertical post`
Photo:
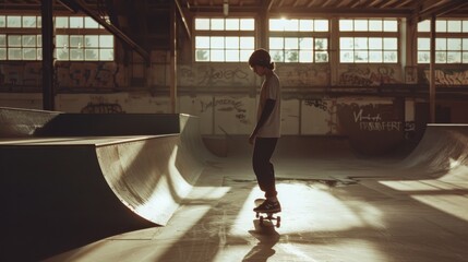
[[[431,62],[431,22],[418,23],[418,63]],[[468,63],[468,20],[435,21],[435,62]]]

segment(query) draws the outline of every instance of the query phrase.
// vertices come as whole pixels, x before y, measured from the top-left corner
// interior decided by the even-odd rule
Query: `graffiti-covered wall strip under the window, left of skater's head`
[[[244,86],[253,83],[253,73],[244,64],[194,64],[179,69],[179,84],[182,86]]]

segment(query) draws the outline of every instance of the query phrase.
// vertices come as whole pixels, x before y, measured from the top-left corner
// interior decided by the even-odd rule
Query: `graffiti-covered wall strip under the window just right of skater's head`
[[[317,86],[327,85],[329,83],[329,69],[327,66],[281,64],[278,66],[276,73],[283,86]]]

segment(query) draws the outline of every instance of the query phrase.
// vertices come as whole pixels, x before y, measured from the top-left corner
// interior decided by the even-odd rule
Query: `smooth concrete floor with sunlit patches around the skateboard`
[[[289,145],[295,146],[295,145]],[[297,154],[295,154],[297,153]],[[46,261],[468,261],[468,179],[349,152],[280,152],[281,225],[260,226],[249,154],[207,163],[167,226]],[[451,176],[449,172],[457,172]],[[453,178],[453,179],[451,179]]]

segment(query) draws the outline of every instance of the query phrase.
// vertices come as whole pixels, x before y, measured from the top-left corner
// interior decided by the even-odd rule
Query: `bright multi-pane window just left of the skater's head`
[[[253,19],[195,19],[195,61],[245,62],[255,48]]]

